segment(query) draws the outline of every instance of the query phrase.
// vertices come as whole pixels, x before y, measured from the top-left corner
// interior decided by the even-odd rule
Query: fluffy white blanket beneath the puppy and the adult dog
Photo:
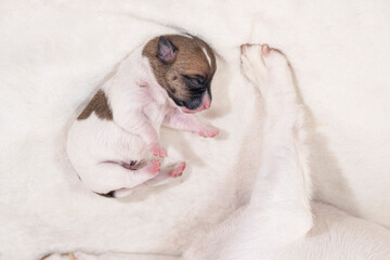
[[[260,161],[259,104],[239,72],[244,42],[282,49],[313,119],[314,198],[390,226],[388,1],[2,1],[0,257],[51,251],[181,253],[248,198]],[[69,122],[101,80],[151,37],[184,29],[218,54],[214,140],[164,130],[174,184],[106,199],[65,152]]]

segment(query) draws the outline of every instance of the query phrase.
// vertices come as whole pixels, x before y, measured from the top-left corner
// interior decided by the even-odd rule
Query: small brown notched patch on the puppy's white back
[[[103,90],[99,90],[87,107],[78,116],[77,120],[87,119],[92,112],[101,119],[113,120],[113,112],[108,105],[107,98]]]

